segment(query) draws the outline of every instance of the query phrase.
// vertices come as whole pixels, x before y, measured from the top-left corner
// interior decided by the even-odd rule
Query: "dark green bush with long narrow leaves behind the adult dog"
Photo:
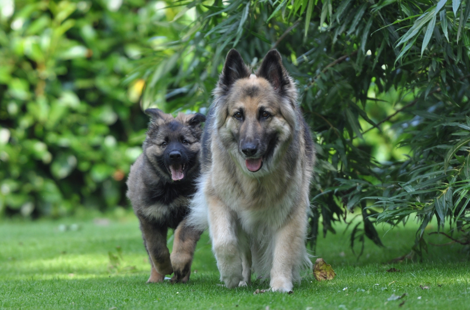
[[[422,224],[418,251],[433,216],[439,228],[468,228],[469,0],[177,3],[195,21],[170,56],[144,59],[155,73],[143,102],[165,92],[167,105],[205,105],[230,48],[254,67],[277,48],[317,143],[313,244],[320,223],[334,232],[354,211],[362,221],[352,245],[366,237],[382,245],[374,222],[409,215]]]

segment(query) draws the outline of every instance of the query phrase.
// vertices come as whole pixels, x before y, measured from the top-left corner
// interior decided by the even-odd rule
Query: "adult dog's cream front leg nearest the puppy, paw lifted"
[[[220,280],[228,288],[236,287],[243,280],[242,258],[237,240],[235,217],[219,199],[208,196],[209,234],[212,250],[217,260]]]

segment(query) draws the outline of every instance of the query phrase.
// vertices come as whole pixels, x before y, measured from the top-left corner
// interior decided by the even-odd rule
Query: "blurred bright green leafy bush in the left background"
[[[178,33],[178,23],[162,27],[177,11],[144,0],[1,2],[0,216],[127,206],[148,123],[144,80],[129,73],[156,34]]]

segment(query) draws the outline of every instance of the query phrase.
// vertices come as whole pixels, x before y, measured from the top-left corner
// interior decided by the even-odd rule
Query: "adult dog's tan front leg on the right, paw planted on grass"
[[[269,284],[273,292],[286,293],[292,290],[292,271],[300,265],[305,252],[305,207],[295,208],[297,210],[294,210],[290,219],[274,235],[273,267]]]

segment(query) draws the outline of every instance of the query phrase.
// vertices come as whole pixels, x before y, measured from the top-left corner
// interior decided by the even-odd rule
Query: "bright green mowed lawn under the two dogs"
[[[146,284],[150,265],[133,216],[3,221],[0,309],[470,309],[469,261],[462,246],[430,245],[423,262],[385,263],[413,245],[417,226],[408,224],[390,231],[379,227],[385,247],[366,241],[359,260],[349,247],[349,232],[337,226],[337,234],[320,237],[317,247],[336,278],[318,282],[305,274],[293,294],[253,294],[269,284],[221,285],[207,233],[197,246],[187,285]],[[430,225],[426,232],[435,229]],[[448,241],[427,233],[426,238]],[[392,267],[401,272],[386,271]],[[403,297],[389,300],[392,296]]]

